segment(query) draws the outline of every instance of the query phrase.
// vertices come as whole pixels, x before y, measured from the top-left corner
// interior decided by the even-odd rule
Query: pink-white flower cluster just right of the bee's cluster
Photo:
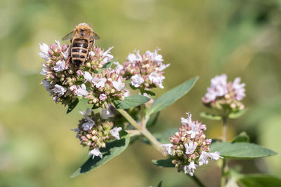
[[[124,62],[122,73],[131,80],[134,88],[164,88],[164,69],[170,64],[163,64],[162,55],[158,54],[159,49],[154,52],[149,50],[141,55],[138,50],[130,53],[127,61]]]

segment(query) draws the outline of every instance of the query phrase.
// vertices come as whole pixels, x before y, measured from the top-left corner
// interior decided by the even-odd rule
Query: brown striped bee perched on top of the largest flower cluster
[[[81,64],[84,64],[89,52],[93,50],[95,39],[100,39],[100,36],[93,32],[93,29],[86,23],[80,23],[72,32],[65,35],[62,40],[70,40],[71,43],[66,66],[69,62],[74,67],[80,67]]]

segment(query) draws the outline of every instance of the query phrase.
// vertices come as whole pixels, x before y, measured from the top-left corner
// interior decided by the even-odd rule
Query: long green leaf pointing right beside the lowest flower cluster
[[[276,155],[275,151],[247,142],[222,142],[211,145],[211,152],[218,151],[224,158],[254,159]]]

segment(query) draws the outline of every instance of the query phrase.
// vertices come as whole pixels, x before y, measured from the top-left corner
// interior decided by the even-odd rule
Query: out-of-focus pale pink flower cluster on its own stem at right
[[[233,82],[227,82],[226,74],[211,78],[211,86],[207,88],[202,102],[217,109],[222,109],[223,105],[230,106],[233,110],[244,109],[244,104],[240,101],[245,97],[245,83],[240,81],[241,78],[238,77]]]

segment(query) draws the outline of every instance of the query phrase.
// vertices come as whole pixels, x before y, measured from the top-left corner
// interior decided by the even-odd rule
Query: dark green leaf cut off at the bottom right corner
[[[281,186],[279,177],[265,174],[245,174],[239,181],[247,187]]]

